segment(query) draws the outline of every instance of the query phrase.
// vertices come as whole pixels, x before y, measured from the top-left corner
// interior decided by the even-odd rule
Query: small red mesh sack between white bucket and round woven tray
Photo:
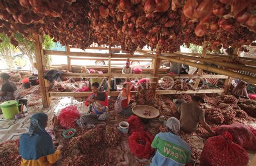
[[[129,123],[130,134],[133,132],[145,131],[142,121],[137,116],[130,116],[129,119],[127,119],[127,122]]]

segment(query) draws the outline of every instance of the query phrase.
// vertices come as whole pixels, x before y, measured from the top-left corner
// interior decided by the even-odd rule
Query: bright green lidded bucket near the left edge
[[[1,110],[5,119],[12,119],[19,113],[18,103],[16,100],[10,100],[1,104]]]

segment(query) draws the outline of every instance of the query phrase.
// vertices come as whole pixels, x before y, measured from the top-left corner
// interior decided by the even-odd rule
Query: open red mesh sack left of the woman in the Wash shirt
[[[149,132],[133,132],[128,138],[131,152],[142,158],[149,158],[154,149],[151,148],[153,136]]]

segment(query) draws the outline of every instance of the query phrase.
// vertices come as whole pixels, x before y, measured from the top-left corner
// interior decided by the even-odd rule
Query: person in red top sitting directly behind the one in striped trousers
[[[97,93],[99,92],[99,83],[95,82],[91,86],[92,93],[87,97],[85,100],[85,105],[89,106],[89,112],[91,111],[91,103],[95,102],[95,98],[97,97]],[[101,102],[103,106],[109,105],[109,99],[107,98],[107,93],[103,92],[105,94],[105,100]]]

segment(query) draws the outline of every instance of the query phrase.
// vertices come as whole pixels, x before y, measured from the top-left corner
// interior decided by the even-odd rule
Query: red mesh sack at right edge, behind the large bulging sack
[[[218,135],[231,133],[233,142],[247,150],[256,150],[256,138],[250,127],[244,124],[221,125],[214,129]]]

